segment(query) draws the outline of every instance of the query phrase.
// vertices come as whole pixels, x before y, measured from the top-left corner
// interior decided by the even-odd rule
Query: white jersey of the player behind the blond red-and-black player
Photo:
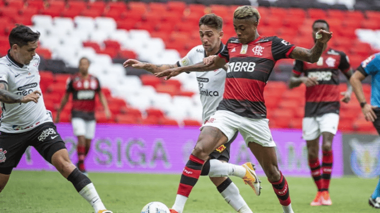
[[[216,55],[219,54],[223,48],[224,44],[222,43]],[[198,45],[192,48],[184,58],[177,62],[177,65],[180,67],[197,64],[202,62],[205,57],[207,56],[203,46]],[[216,107],[223,99],[226,71],[218,69],[214,71],[196,72],[196,80],[198,81],[200,102],[203,106],[202,119],[203,123],[205,123],[210,116],[214,114]]]

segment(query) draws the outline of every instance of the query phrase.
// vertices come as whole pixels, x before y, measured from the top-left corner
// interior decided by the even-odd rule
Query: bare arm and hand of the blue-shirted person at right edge
[[[362,106],[362,112],[364,114],[364,117],[366,118],[366,120],[374,122],[375,119],[377,119],[377,116],[373,109],[377,108],[377,106],[367,104],[362,85],[362,81],[365,78],[366,76],[364,76],[364,74],[362,74],[360,71],[355,71],[354,74],[352,74],[352,76],[350,77],[350,84],[354,90],[355,96],[358,99],[359,103],[366,103],[364,104],[364,106]]]

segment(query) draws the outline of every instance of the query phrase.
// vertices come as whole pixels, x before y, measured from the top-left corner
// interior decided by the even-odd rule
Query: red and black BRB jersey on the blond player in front
[[[277,36],[258,37],[242,44],[228,40],[219,57],[229,62],[223,100],[218,110],[248,118],[266,118],[264,87],[276,62],[288,58],[294,45]]]

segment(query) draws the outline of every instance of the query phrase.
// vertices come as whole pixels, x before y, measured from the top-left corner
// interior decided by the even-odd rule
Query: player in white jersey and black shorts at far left
[[[28,146],[51,163],[85,198],[95,213],[105,210],[94,184],[70,161],[65,143],[52,123],[40,88],[36,54],[40,33],[20,25],[9,35],[10,50],[0,58],[0,192]]]

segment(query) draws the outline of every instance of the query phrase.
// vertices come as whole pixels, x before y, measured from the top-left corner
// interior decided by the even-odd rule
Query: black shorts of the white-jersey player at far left
[[[43,123],[23,133],[1,132],[0,173],[9,175],[20,162],[28,146],[36,148],[49,163],[51,163],[51,157],[56,151],[66,148],[55,125],[51,122]]]

